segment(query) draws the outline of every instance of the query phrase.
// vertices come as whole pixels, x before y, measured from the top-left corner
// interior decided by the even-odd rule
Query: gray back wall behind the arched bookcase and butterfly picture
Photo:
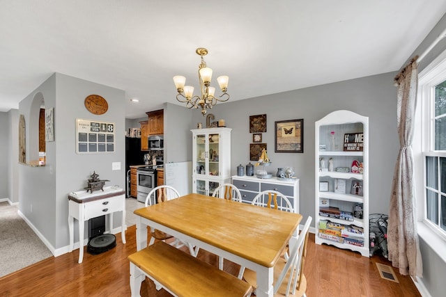
[[[398,153],[396,73],[380,74],[313,88],[293,90],[253,99],[221,104],[213,108],[215,119],[224,118],[231,134],[231,171],[236,175],[238,164],[249,162],[249,115],[266,113],[267,128],[263,143],[268,144],[272,165],[293,166],[300,179],[300,211],[314,217],[314,123],[332,111],[347,109],[369,117],[370,213],[387,214],[394,163]],[[201,115],[200,115],[201,116]],[[196,117],[197,118],[197,117]],[[304,152],[275,152],[275,121],[304,120]]]

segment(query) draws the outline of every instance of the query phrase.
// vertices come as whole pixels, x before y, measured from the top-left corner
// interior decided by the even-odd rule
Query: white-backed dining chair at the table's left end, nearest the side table
[[[178,191],[176,191],[176,188],[172,186],[161,185],[153,188],[147,194],[145,205],[146,207],[150,207],[154,204],[176,199],[178,197],[180,197],[180,194],[178,193]],[[174,236],[151,227],[151,241],[148,243],[148,245],[152,245],[155,242],[155,239],[166,241],[167,239],[171,238],[174,238]],[[190,243],[185,243],[183,241],[180,241],[179,239],[175,239],[170,244],[171,246],[175,246],[176,248],[180,248],[186,245],[189,248],[190,255],[197,257],[198,250],[195,251],[194,247]]]

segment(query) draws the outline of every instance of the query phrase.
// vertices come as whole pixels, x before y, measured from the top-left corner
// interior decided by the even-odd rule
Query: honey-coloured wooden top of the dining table
[[[302,215],[192,193],[144,207],[134,214],[272,267]]]

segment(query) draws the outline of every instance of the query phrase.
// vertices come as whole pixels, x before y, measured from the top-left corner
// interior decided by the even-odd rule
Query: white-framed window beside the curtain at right
[[[422,105],[423,203],[419,212],[438,236],[446,239],[446,52],[419,76]],[[419,106],[420,107],[420,106]],[[421,170],[415,165],[415,170]]]

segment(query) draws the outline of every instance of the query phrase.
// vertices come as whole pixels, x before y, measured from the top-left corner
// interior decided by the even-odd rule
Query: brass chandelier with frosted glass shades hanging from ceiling
[[[208,54],[208,50],[203,47],[199,47],[195,51],[199,56],[201,56],[201,63],[198,67],[198,79],[200,82],[201,95],[194,96],[194,87],[185,86],[186,78],[180,75],[174,77],[174,83],[178,94],[176,99],[179,102],[185,103],[188,109],[198,109],[201,107],[201,114],[206,115],[207,109],[212,109],[212,106],[217,104],[217,101],[225,102],[229,100],[229,94],[226,93],[228,90],[229,77],[223,75],[217,77],[218,84],[222,90],[222,95],[219,97],[214,97],[215,88],[210,86],[210,79],[212,77],[212,69],[206,67],[206,62],[203,56]]]

